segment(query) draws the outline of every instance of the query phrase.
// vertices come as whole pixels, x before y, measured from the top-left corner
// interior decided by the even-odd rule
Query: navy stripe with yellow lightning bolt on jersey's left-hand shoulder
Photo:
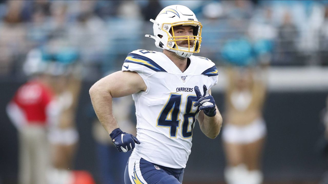
[[[156,72],[167,72],[162,67],[160,67],[158,64],[156,64],[153,60],[139,55],[135,53],[130,53],[126,58],[124,63],[135,63],[135,64],[141,64],[144,65]]]

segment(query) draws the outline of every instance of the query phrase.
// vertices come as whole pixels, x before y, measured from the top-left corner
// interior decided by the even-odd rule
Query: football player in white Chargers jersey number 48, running
[[[193,56],[202,41],[202,25],[193,11],[172,5],[150,21],[154,35],[145,36],[153,38],[163,52],[131,52],[122,71],[100,79],[89,92],[97,117],[118,151],[134,148],[125,183],[179,184],[196,119],[207,137],[215,138],[220,132],[222,117],[210,91],[218,73],[211,60]],[[122,132],[112,113],[112,99],[131,94],[137,137]]]

